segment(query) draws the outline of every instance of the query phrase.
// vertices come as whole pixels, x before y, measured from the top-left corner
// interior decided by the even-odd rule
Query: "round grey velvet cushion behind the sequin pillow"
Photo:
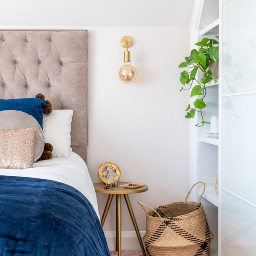
[[[22,129],[35,127],[33,163],[44,152],[44,133],[38,121],[29,114],[17,110],[0,111],[0,129]],[[26,148],[24,148],[26,150]]]

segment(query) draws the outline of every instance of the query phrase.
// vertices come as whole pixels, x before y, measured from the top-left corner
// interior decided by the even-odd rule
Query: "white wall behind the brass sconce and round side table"
[[[130,195],[140,231],[145,212],[137,201],[157,207],[183,201],[189,189],[189,121],[184,110],[189,95],[180,92],[177,66],[189,53],[187,27],[88,27],[89,147],[87,165],[93,182],[102,163],[116,163],[121,181],[146,183],[148,192]],[[133,44],[131,64],[137,80],[118,78],[123,65],[123,36]],[[107,195],[98,194],[102,215]],[[115,200],[105,231],[115,230]],[[134,231],[122,199],[122,230]],[[107,233],[109,235],[109,233]],[[123,233],[136,236],[135,232]],[[111,249],[114,239],[108,239]],[[136,239],[123,239],[123,249],[139,248]]]

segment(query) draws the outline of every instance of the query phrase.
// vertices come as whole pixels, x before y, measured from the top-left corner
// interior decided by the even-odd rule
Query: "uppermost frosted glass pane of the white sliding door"
[[[222,20],[222,94],[256,91],[256,1],[227,1]]]

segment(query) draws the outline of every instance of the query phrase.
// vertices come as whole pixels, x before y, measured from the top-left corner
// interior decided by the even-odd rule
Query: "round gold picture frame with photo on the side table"
[[[116,164],[107,162],[99,166],[98,176],[103,183],[107,183],[108,181],[113,182],[113,180],[119,180],[121,172]]]

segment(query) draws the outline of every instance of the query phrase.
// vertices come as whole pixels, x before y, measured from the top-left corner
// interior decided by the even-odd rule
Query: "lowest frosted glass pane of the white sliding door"
[[[221,256],[255,256],[256,208],[221,191]]]

